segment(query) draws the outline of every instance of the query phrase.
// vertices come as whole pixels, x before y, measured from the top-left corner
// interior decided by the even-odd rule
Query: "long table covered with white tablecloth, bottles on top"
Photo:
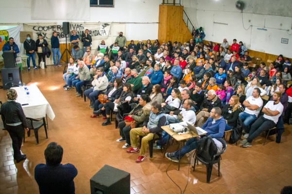
[[[22,105],[25,116],[30,118],[41,118],[47,115],[51,120],[54,120],[55,113],[37,85],[28,85],[27,88],[29,90],[29,95],[26,95],[23,86],[12,88],[17,91],[18,97],[16,101]]]

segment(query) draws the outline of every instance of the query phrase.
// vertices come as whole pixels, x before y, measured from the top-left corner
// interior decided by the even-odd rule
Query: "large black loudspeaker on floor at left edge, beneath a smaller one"
[[[4,90],[8,90],[8,88],[5,86],[6,83],[12,82],[18,85],[19,80],[22,82],[19,66],[15,66],[12,68],[3,67],[1,69],[1,74],[2,74],[2,83],[3,83]]]

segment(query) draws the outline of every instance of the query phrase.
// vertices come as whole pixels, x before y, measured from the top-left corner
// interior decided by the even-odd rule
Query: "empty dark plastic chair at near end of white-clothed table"
[[[42,122],[41,122],[42,120]],[[47,133],[47,126],[46,126],[46,120],[45,117],[42,117],[40,119],[34,119],[34,118],[29,118],[26,117],[26,122],[27,122],[27,126],[29,131],[27,131],[27,136],[30,137],[30,131],[34,130],[36,139],[37,139],[37,144],[38,144],[38,129],[40,129],[42,126],[44,126],[45,128],[45,132],[46,132],[46,137],[48,139],[48,133]],[[25,143],[25,135],[23,136],[23,142]]]

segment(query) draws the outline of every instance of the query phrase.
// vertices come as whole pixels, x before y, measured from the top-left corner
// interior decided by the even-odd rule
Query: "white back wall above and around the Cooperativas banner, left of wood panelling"
[[[61,1],[61,0],[60,0]],[[84,22],[126,23],[124,35],[128,40],[151,39],[158,37],[159,4],[162,0],[115,0],[114,8],[90,8],[90,20]],[[31,0],[0,0],[0,23],[51,23],[62,24],[62,20],[32,20]],[[39,14],[45,12],[40,8]],[[81,22],[71,20],[69,22]],[[149,24],[146,24],[149,22]],[[138,23],[138,24],[135,24]],[[141,24],[145,23],[145,24]],[[118,30],[119,31],[119,30]],[[116,32],[113,32],[116,35]]]

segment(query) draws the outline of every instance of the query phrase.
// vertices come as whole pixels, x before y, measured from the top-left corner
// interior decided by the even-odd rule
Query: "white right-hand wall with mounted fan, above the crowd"
[[[184,4],[191,5],[191,9],[185,11],[188,15],[197,13],[197,27],[204,28],[206,40],[221,43],[223,38],[227,38],[232,44],[236,38],[248,49],[292,57],[292,35],[289,35],[292,34],[292,12],[290,6],[285,6],[290,5],[291,0],[243,0],[246,4],[243,19],[241,11],[235,7],[235,0],[192,1],[183,0]],[[244,28],[248,30],[243,28],[242,20]],[[267,31],[257,30],[264,27]],[[281,38],[288,38],[289,43],[282,44]]]

